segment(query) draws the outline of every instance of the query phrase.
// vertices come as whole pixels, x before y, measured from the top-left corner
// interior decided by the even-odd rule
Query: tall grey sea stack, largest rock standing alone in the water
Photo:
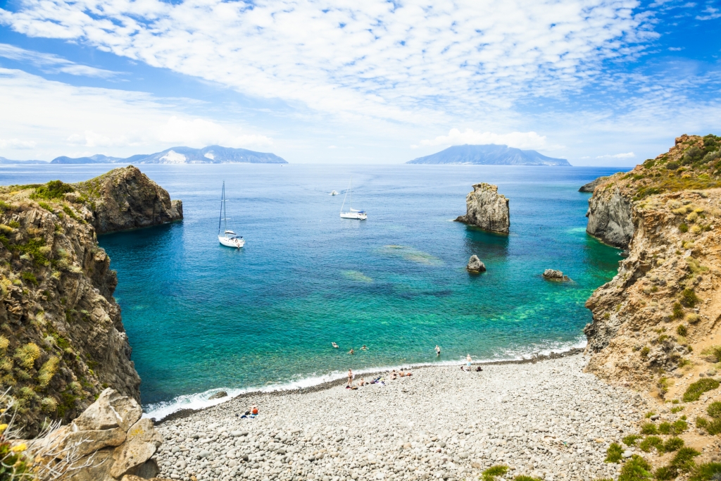
[[[473,192],[466,195],[466,215],[456,222],[464,222],[486,231],[508,234],[510,212],[508,199],[498,193],[496,185],[482,182],[473,186]]]

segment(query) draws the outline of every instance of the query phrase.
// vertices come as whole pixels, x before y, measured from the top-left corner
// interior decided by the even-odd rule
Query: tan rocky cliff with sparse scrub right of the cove
[[[611,206],[614,195],[626,199],[619,208],[632,222],[629,257],[586,302],[593,312],[585,327],[588,369],[604,379],[653,388],[658,376],[673,376],[680,366],[704,369],[701,352],[721,329],[721,189],[697,187],[714,185],[721,173],[716,142],[678,138],[669,154],[594,191],[590,205],[597,208]],[[694,147],[706,152],[688,162]],[[670,392],[683,392],[685,384],[677,381]]]

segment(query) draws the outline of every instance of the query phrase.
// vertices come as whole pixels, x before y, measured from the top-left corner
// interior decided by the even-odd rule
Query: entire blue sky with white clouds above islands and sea
[[[0,156],[632,166],[721,135],[721,0],[0,0]]]

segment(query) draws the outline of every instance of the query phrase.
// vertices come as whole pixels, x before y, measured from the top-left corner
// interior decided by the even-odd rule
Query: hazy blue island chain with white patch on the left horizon
[[[231,149],[223,146],[208,146],[203,149],[172,147],[156,154],[137,154],[130,157],[111,157],[95,154],[89,157],[59,156],[50,164],[288,164],[275,154],[247,149]],[[0,164],[47,164],[42,160],[9,160],[0,157]]]

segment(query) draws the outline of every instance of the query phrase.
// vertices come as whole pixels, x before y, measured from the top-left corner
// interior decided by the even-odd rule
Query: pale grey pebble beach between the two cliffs
[[[160,476],[455,481],[505,464],[509,479],[615,477],[606,449],[637,431],[645,402],[584,373],[585,362],[433,366],[386,374],[384,386],[247,394],[159,423]],[[251,405],[260,415],[242,418]]]

